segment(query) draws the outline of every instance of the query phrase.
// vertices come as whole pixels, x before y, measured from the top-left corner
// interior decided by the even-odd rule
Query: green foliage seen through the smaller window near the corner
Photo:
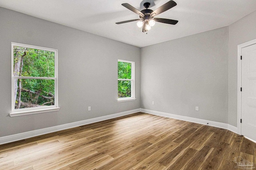
[[[132,63],[118,61],[118,79],[132,78]],[[131,97],[131,80],[118,80],[118,98]]]

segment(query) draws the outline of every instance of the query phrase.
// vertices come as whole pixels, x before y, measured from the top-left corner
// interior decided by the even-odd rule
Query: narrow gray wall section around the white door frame
[[[256,39],[256,11],[229,26],[228,124],[237,126],[237,46]]]

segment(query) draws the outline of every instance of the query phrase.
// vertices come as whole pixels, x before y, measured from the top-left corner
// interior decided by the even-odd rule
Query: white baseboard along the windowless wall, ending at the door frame
[[[209,120],[204,120],[204,119],[197,119],[197,118],[193,118],[193,117],[186,117],[186,116],[164,113],[164,112],[160,112],[160,111],[153,111],[153,110],[148,110],[148,109],[140,109],[140,111],[144,112],[144,113],[149,113],[149,114],[152,114],[152,115],[169,117],[169,118],[173,118],[173,119],[179,119],[179,120],[199,123],[199,124],[203,124],[203,125],[219,127],[219,128],[222,128],[222,129],[228,129],[228,130],[230,130],[234,133],[237,133],[237,127],[234,127],[232,125],[228,125],[226,123],[220,123],[220,122],[209,121]]]

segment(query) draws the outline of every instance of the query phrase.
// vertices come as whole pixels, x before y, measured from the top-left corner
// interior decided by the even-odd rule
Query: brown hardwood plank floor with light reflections
[[[0,145],[0,169],[238,170],[238,156],[255,167],[256,144],[225,129],[134,113]]]

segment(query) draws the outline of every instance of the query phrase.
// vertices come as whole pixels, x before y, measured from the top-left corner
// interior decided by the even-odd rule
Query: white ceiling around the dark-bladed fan
[[[256,10],[256,0],[174,0],[177,6],[159,14],[157,18],[178,20],[176,25],[156,22],[146,34],[137,27],[136,21],[116,24],[139,18],[122,3],[143,10],[143,2],[152,1],[0,0],[0,6],[137,47],[228,26]],[[156,10],[168,1],[154,0],[155,6],[149,9]]]

